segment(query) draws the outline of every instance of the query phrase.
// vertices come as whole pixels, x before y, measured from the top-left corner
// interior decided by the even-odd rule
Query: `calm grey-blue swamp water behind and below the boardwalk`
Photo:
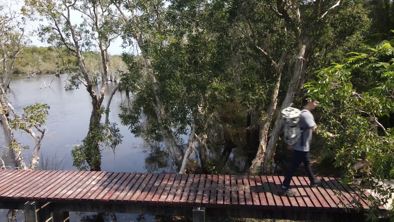
[[[26,76],[14,75],[10,88],[9,99],[15,107],[17,113],[23,113],[23,107],[34,103],[47,103],[50,106],[46,128],[50,131],[41,143],[41,151],[44,155],[57,154],[59,158],[65,158],[65,170],[76,170],[72,166],[71,150],[74,144],[82,144],[88,131],[89,118],[91,113],[91,99],[85,87],[66,92],[64,89],[67,74],[53,80],[50,87],[48,83],[52,80],[52,74],[41,74],[35,78],[27,79]],[[44,81],[46,88],[44,87]],[[112,91],[114,83],[108,83],[107,97]],[[40,89],[40,87],[42,87]],[[97,92],[97,90],[96,90]],[[166,166],[152,163],[150,145],[143,139],[135,137],[130,133],[127,126],[122,126],[118,117],[120,112],[119,105],[126,101],[125,92],[117,92],[111,102],[110,122],[117,122],[123,137],[123,143],[115,149],[103,148],[102,151],[102,171],[121,171],[121,172],[147,172],[149,171],[171,171]],[[104,105],[107,100],[104,99]],[[102,118],[104,120],[105,117]],[[25,133],[15,133],[15,138],[19,143],[33,145],[33,139]],[[0,127],[1,146],[6,146],[6,135]],[[25,160],[31,155],[32,150],[24,150]],[[150,156],[150,160],[145,159]],[[147,163],[147,164],[146,164]],[[7,210],[0,210],[0,221],[7,221]],[[18,211],[17,221],[24,220],[22,211]],[[82,220],[89,213],[71,213],[71,221]],[[137,221],[138,215],[116,214],[119,222]],[[141,218],[141,217],[139,217]],[[145,215],[148,221],[154,220],[150,215]],[[112,221],[108,216],[105,220],[89,221]]]

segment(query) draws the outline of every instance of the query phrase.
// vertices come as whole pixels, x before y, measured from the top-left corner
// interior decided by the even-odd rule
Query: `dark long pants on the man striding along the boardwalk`
[[[304,163],[305,171],[307,171],[309,181],[313,182],[315,176],[310,168],[310,155],[309,151],[293,151],[293,161],[290,166],[289,171],[287,172],[286,177],[284,178],[282,186],[288,188],[290,186],[290,181],[292,180],[292,176],[296,173],[298,167]]]

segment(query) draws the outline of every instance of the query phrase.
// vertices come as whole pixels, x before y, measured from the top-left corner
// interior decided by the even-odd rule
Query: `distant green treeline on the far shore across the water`
[[[60,53],[61,54],[60,54]],[[97,52],[85,52],[85,63],[87,66],[99,68],[99,54]],[[120,56],[111,56],[111,62],[122,65]],[[64,62],[65,61],[65,62]],[[25,47],[20,56],[15,60],[14,73],[64,73],[76,71],[77,68],[71,58],[61,50],[54,51],[48,47]]]

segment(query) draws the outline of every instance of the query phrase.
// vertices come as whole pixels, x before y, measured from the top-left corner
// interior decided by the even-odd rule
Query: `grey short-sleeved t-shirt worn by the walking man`
[[[309,151],[310,141],[312,141],[313,134],[313,131],[310,128],[316,126],[315,119],[309,110],[302,110],[301,117],[299,119],[299,126],[301,127],[301,130],[304,131],[299,137],[298,142],[293,145],[293,149],[296,151]],[[303,143],[302,146],[301,143]]]

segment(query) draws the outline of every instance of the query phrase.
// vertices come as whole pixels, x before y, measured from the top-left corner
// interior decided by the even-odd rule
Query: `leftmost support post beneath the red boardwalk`
[[[53,222],[50,202],[28,201],[24,204],[26,222]]]

